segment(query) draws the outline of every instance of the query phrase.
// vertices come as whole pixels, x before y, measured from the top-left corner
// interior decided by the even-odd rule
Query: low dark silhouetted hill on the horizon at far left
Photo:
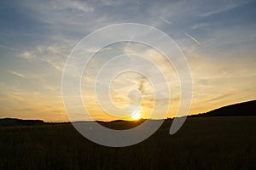
[[[0,119],[2,126],[15,126],[15,125],[43,125],[44,121],[41,120],[21,120],[16,118],[3,118]]]

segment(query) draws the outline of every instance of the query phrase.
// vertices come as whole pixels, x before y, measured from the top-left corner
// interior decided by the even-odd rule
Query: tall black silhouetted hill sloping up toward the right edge
[[[256,116],[256,100],[227,105],[195,116]]]

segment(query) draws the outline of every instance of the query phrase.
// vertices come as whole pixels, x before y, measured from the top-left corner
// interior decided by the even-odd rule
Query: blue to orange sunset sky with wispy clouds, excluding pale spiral
[[[69,121],[61,94],[62,71],[69,55],[91,32],[122,23],[153,26],[177,43],[193,79],[189,115],[256,99],[255,7],[256,1],[250,0],[1,1],[0,117]],[[104,36],[109,35],[101,38]],[[97,71],[110,57],[131,52],[159,63],[167,80],[152,88],[148,77],[137,72],[119,74],[108,93],[101,89],[98,93],[106,101],[110,94],[119,109],[131,105],[121,113],[106,113],[98,105],[94,91]],[[142,117],[147,118],[156,101],[160,105],[157,108],[170,104],[166,117],[175,116],[181,96],[179,78],[159,51],[138,42],[113,43],[96,53],[89,64],[84,70],[81,91],[84,105],[96,120],[129,119],[137,105],[141,105]],[[135,56],[113,61],[102,77],[124,65],[137,65],[149,79],[155,77],[155,70]],[[99,83],[104,81],[108,79],[102,78]],[[140,99],[137,94],[127,95],[132,89],[137,89],[135,93],[141,95]],[[168,90],[171,98],[166,97]],[[155,93],[161,93],[161,97],[154,100]]]

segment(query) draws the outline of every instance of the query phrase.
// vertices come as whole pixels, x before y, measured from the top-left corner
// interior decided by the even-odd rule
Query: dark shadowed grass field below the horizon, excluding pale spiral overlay
[[[0,169],[256,169],[256,116],[192,117],[172,136],[171,123],[125,148],[94,144],[68,123],[0,127]]]

